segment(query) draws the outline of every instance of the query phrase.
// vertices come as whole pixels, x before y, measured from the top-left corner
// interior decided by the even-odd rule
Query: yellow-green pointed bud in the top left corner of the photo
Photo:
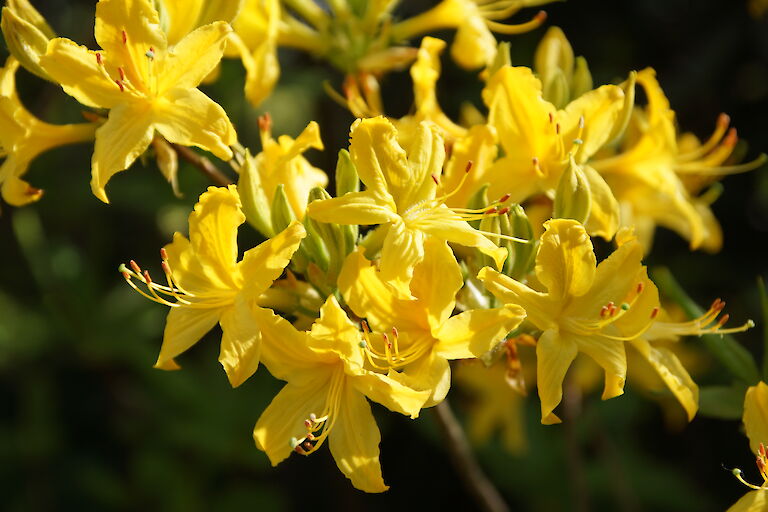
[[[27,71],[44,80],[54,80],[40,66],[48,41],[56,37],[45,18],[27,0],[9,0],[3,7],[0,28],[5,36],[8,51]]]

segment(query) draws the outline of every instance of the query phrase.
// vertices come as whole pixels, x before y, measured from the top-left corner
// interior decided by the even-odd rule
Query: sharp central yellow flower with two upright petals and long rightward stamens
[[[352,125],[350,155],[366,190],[314,201],[307,213],[320,222],[384,224],[379,228],[386,230],[383,280],[408,296],[413,267],[424,259],[424,241],[430,237],[476,247],[501,267],[506,249],[466,222],[482,214],[451,210],[445,195],[437,195],[445,148],[433,124],[421,123],[406,151],[385,118],[358,120]]]

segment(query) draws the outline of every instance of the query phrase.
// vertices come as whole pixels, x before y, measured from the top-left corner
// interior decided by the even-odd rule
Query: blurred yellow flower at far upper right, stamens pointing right
[[[658,224],[687,239],[691,249],[717,252],[722,233],[709,208],[713,199],[696,194],[723,175],[759,167],[764,156],[743,165],[722,166],[737,141],[734,130],[726,135],[728,116],[720,116],[715,132],[704,144],[690,137],[679,139],[675,112],[655,71],[640,71],[637,82],[645,90],[648,105],[635,107],[618,154],[604,155],[592,165],[621,203],[621,224],[637,227],[646,250]]]

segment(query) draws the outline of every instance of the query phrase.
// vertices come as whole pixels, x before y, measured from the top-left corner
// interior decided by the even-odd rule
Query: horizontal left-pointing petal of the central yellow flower
[[[336,224],[384,224],[399,219],[395,211],[392,196],[376,195],[369,190],[307,205],[307,215],[313,219]]]

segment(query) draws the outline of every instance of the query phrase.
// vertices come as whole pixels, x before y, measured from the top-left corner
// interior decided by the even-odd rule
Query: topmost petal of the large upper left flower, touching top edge
[[[160,66],[168,46],[150,0],[100,0],[96,4],[94,34],[109,60],[124,66],[134,83],[149,83],[149,68],[143,65],[147,62],[147,51],[154,49],[160,56],[156,61]]]

